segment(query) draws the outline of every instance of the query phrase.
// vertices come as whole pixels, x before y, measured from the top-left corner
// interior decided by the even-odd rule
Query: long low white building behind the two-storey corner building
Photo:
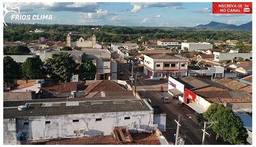
[[[187,48],[188,51],[198,49],[212,49],[213,45],[208,42],[182,42],[181,49]]]

